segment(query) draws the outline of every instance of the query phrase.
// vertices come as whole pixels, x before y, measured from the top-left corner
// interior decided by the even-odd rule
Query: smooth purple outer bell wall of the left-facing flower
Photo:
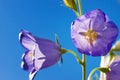
[[[39,48],[37,50],[40,50],[45,55],[46,59],[42,68],[49,67],[58,62],[61,56],[60,46],[47,39],[37,37],[35,37],[35,39]],[[43,59],[43,57],[41,57],[41,59]]]

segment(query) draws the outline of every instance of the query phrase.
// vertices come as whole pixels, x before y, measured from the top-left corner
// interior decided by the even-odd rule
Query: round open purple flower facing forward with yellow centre
[[[117,35],[117,26],[99,9],[80,16],[71,25],[72,40],[86,55],[106,55]]]

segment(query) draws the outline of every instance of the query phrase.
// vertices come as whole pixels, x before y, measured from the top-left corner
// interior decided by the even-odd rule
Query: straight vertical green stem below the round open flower
[[[86,55],[82,54],[82,80],[86,80]]]

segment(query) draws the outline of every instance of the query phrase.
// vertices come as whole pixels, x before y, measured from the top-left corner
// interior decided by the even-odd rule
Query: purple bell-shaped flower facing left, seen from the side
[[[22,46],[27,49],[23,54],[21,67],[30,72],[29,80],[33,80],[39,70],[55,64],[61,57],[58,44],[35,37],[26,30],[20,32],[19,40]]]

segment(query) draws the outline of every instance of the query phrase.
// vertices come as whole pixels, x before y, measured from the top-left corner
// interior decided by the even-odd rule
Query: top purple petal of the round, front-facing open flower
[[[91,28],[94,31],[102,31],[105,28],[105,23],[108,21],[106,15],[101,10],[94,10],[89,13],[91,18]]]

